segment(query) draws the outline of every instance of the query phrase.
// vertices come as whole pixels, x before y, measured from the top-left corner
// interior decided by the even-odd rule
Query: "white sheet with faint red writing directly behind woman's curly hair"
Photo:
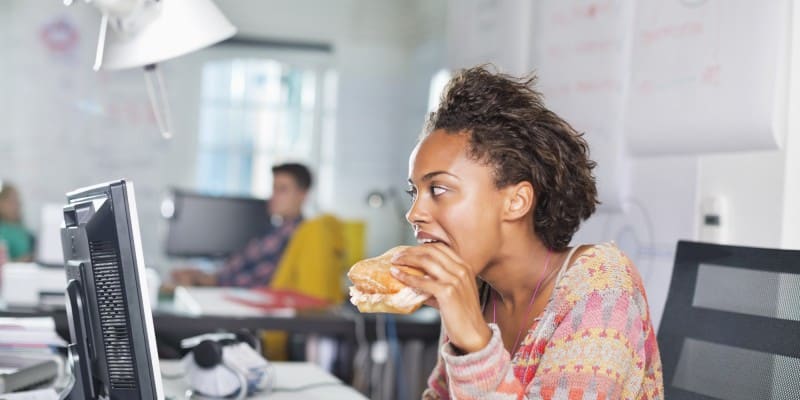
[[[545,104],[585,134],[597,162],[601,210],[625,195],[623,147],[632,2],[544,0],[533,64]]]

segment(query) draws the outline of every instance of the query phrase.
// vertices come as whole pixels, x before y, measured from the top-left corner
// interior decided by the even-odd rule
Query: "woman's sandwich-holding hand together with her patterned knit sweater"
[[[643,298],[633,301],[634,293],[639,297],[641,293],[632,289],[624,268],[604,267],[611,273],[596,271],[595,278],[581,276],[574,290],[556,299],[560,306],[546,311],[540,324],[547,325],[537,329],[543,334],[523,349],[533,363],[523,371],[523,385],[514,374],[500,330],[494,324],[487,327],[483,320],[474,277],[463,276],[463,263],[448,250],[417,246],[395,259],[398,264],[426,272],[425,278],[403,273],[395,276],[433,294],[448,334],[431,377],[434,383],[446,381],[447,391],[432,387],[428,394],[458,399],[505,399],[509,395],[540,399],[556,392],[567,397],[570,393],[599,391],[606,393],[606,398],[618,398],[632,388],[641,388],[646,314],[640,304],[646,302]],[[601,275],[603,278],[598,278]],[[488,339],[483,339],[476,328],[476,318],[480,318],[483,329],[489,330]],[[462,344],[481,341],[484,344],[477,348]]]

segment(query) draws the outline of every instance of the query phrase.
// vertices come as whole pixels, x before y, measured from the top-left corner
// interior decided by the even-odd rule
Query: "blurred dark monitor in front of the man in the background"
[[[210,196],[174,190],[168,218],[166,253],[173,257],[227,257],[263,235],[269,226],[264,199]]]

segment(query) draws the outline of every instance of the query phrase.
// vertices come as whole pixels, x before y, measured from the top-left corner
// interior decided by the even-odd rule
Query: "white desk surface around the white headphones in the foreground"
[[[182,367],[178,360],[161,360],[161,371],[164,374],[173,374],[181,371]],[[289,399],[331,399],[331,400],[350,400],[366,399],[364,395],[350,386],[345,385],[335,376],[320,368],[316,364],[307,362],[272,362],[275,366],[275,389],[272,393],[258,393],[248,399],[269,399],[269,400],[289,400]],[[164,395],[167,399],[185,399],[185,392],[189,388],[186,380],[163,379]],[[339,383],[338,385],[323,385],[310,387],[304,390],[291,391],[315,383]],[[283,389],[283,390],[282,390]]]

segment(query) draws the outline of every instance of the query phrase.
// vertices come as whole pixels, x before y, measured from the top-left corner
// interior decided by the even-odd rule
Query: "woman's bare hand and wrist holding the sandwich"
[[[439,308],[450,343],[465,353],[486,347],[492,331],[483,320],[475,275],[451,248],[442,243],[410,247],[392,259],[395,265],[417,268],[425,276],[413,276],[392,268],[400,282],[433,296],[426,302]]]

